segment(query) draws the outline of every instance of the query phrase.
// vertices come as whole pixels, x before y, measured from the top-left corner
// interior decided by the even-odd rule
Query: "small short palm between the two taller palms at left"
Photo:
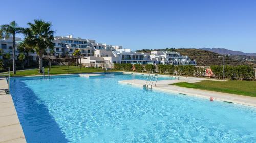
[[[22,43],[19,44],[18,50],[19,50],[19,52],[26,54],[27,66],[29,67],[29,52],[35,52],[35,51],[34,51],[33,47],[29,45],[26,38]]]

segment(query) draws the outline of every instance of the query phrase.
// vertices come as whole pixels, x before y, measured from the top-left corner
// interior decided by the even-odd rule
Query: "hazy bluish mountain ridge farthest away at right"
[[[256,53],[244,53],[241,51],[233,51],[233,50],[228,50],[228,49],[224,49],[224,48],[201,48],[202,50],[207,50],[207,51],[211,51],[211,52],[215,52],[218,54],[222,54],[222,55],[246,55],[246,56],[256,56]]]

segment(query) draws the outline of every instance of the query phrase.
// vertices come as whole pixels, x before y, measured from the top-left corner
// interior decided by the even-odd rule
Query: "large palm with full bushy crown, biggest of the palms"
[[[38,72],[42,73],[42,56],[46,52],[47,48],[53,49],[53,33],[51,30],[52,24],[42,20],[34,20],[34,23],[28,23],[30,26],[26,28],[25,35],[28,44],[35,48],[35,51],[39,55],[39,68]]]

